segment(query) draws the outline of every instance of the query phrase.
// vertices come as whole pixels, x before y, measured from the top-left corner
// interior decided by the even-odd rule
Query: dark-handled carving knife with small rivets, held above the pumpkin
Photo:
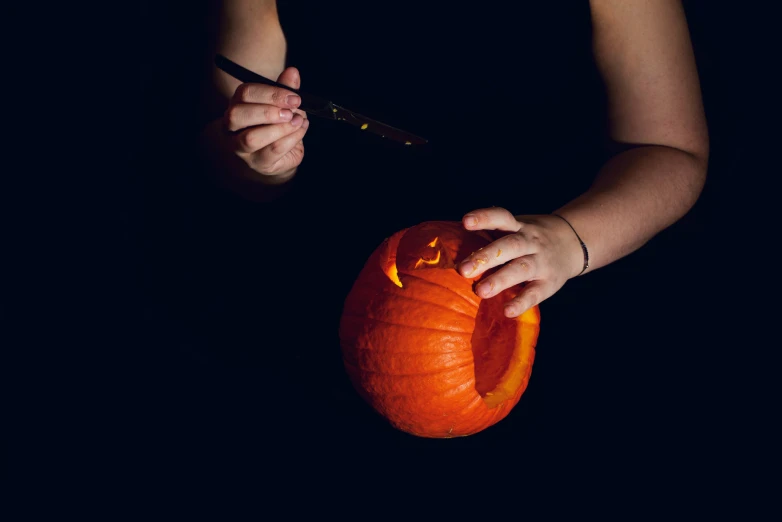
[[[215,65],[220,70],[233,76],[242,83],[263,83],[295,92],[301,97],[301,105],[299,105],[299,109],[303,110],[307,114],[320,116],[330,120],[344,121],[358,127],[363,131],[371,132],[383,138],[388,138],[399,143],[404,143],[405,145],[422,145],[428,142],[428,140],[420,136],[416,136],[415,134],[398,129],[396,127],[392,127],[391,125],[387,125],[377,120],[367,118],[366,116],[363,116],[355,111],[351,111],[336,105],[330,100],[326,100],[319,96],[305,93],[288,87],[287,85],[277,83],[274,80],[270,80],[264,76],[261,76],[260,74],[254,73],[251,70],[242,67],[241,65],[229,60],[221,54],[215,55]]]

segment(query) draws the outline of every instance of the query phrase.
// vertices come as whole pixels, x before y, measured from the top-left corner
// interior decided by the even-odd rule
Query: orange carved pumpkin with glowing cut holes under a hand
[[[456,270],[491,242],[459,222],[401,230],[373,252],[345,300],[339,336],[347,374],[399,430],[478,433],[504,419],[527,387],[539,308],[507,318],[503,305],[518,287],[484,300],[473,291],[483,276]]]

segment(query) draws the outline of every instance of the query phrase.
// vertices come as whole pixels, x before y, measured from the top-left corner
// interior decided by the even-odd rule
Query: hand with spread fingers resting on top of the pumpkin
[[[518,317],[548,299],[583,268],[579,240],[556,216],[517,219],[504,208],[486,208],[466,214],[462,224],[467,230],[500,232],[499,239],[473,252],[459,265],[459,273],[470,278],[505,265],[476,285],[479,297],[493,297],[525,283],[521,293],[505,304],[506,317]]]

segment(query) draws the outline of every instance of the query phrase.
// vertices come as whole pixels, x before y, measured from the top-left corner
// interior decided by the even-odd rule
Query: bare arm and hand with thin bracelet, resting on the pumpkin
[[[555,213],[587,245],[589,268],[642,247],[683,217],[706,180],[709,139],[695,58],[679,0],[592,0],[593,52],[608,97],[610,137],[625,145],[592,186]],[[459,271],[490,298],[524,283],[505,305],[516,317],[582,273],[584,254],[568,223],[553,215],[477,209],[468,230],[502,235],[468,256]]]

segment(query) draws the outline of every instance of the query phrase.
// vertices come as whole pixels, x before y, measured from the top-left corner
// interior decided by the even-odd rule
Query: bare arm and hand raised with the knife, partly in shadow
[[[224,0],[213,52],[284,85],[297,88],[295,68],[285,67],[287,42],[275,0]],[[252,200],[281,194],[303,156],[307,126],[292,92],[244,84],[212,68],[211,120],[201,133],[209,172],[226,188]],[[240,88],[241,87],[241,88]],[[295,98],[295,97],[294,97]]]

